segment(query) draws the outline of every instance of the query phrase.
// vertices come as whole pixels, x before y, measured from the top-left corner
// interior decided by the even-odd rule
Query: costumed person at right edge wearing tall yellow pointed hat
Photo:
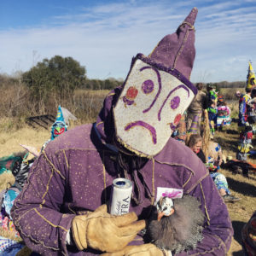
[[[255,103],[256,97],[255,74],[251,62],[249,62],[247,73],[246,94],[239,99],[239,121],[238,128],[240,131],[240,142],[236,153],[237,160],[247,160],[247,154],[252,145],[253,133],[255,133],[253,124],[256,121]]]

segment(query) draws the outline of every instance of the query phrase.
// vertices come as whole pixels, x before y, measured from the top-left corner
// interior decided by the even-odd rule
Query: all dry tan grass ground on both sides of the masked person
[[[237,117],[237,104],[231,105],[232,116]],[[1,123],[1,122],[0,122]],[[79,122],[72,124],[73,126],[79,125]],[[29,126],[20,128],[18,131],[0,131],[0,157],[12,154],[14,152],[21,151],[21,144],[34,146],[41,148],[42,144],[50,137],[49,130],[45,129],[32,129]],[[235,158],[236,147],[238,142],[237,124],[234,122],[230,127],[224,131],[216,133],[214,140],[218,142],[223,148],[224,155],[232,156]],[[256,163],[256,160],[251,160]],[[228,255],[239,256],[241,253],[241,227],[247,223],[247,220],[256,210],[256,175],[255,172],[250,172],[249,177],[243,177],[241,173],[234,175],[229,170],[221,170],[227,177],[232,195],[241,198],[241,201],[236,203],[227,203],[227,207],[230,212],[230,218],[235,230],[232,246]],[[3,174],[0,177],[0,189],[4,189],[8,182],[13,182],[14,177],[10,174]],[[8,236],[14,238],[14,236],[6,231],[0,230],[0,236]]]

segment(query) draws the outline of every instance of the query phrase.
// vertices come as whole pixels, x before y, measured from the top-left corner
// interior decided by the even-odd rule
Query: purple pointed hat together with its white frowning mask
[[[194,8],[150,55],[138,54],[131,61],[113,118],[119,143],[138,155],[150,158],[160,152],[197,93],[189,82],[196,15]]]

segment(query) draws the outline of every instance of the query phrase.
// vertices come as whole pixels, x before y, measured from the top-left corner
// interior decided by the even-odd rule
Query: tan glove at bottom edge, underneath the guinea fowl
[[[140,246],[127,246],[115,253],[103,253],[102,256],[172,256],[171,252],[160,250],[153,243]]]

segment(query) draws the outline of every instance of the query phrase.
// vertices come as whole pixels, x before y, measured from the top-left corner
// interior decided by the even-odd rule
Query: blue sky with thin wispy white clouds
[[[90,79],[125,79],[131,58],[148,55],[193,7],[191,81],[246,80],[248,61],[256,70],[255,0],[0,0],[0,73],[61,55],[79,61]]]

